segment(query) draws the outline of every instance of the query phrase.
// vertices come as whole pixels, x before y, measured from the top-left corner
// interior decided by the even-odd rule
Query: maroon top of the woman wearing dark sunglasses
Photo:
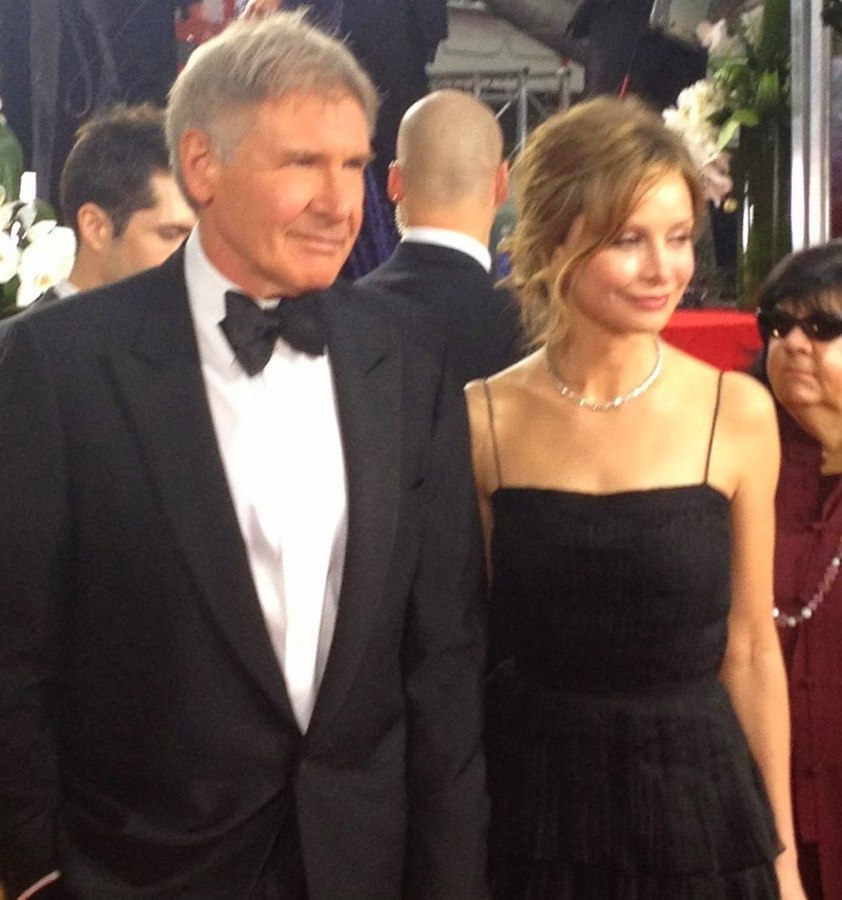
[[[821,447],[779,410],[775,604],[797,613],[842,538],[842,476],[821,474]],[[818,846],[827,900],[842,898],[842,573],[813,618],[779,631],[789,676],[796,834]]]

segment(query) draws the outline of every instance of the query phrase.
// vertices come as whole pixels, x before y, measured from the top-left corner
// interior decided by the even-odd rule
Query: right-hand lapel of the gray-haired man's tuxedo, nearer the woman
[[[328,348],[348,485],[339,609],[308,734],[328,725],[350,687],[383,596],[400,496],[401,354],[351,297],[326,298]]]

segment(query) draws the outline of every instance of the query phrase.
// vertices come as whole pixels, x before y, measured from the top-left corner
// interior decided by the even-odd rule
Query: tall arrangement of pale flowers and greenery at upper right
[[[789,0],[766,0],[698,29],[708,77],[686,88],[664,120],[682,134],[707,195],[743,209],[738,294],[751,304],[760,281],[791,247]],[[736,189],[735,189],[736,184]]]

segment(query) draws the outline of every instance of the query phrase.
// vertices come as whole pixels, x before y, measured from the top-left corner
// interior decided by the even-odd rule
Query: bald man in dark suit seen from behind
[[[470,94],[434,91],[407,110],[389,172],[402,239],[357,284],[444,350],[460,385],[522,353],[517,307],[495,288],[488,244],[508,196],[503,135]]]

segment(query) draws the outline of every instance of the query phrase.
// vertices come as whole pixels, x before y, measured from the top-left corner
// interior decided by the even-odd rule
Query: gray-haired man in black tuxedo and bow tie
[[[12,897],[486,896],[463,405],[331,287],[375,115],[298,14],[235,23],[170,100],[183,250],[0,333]]]

